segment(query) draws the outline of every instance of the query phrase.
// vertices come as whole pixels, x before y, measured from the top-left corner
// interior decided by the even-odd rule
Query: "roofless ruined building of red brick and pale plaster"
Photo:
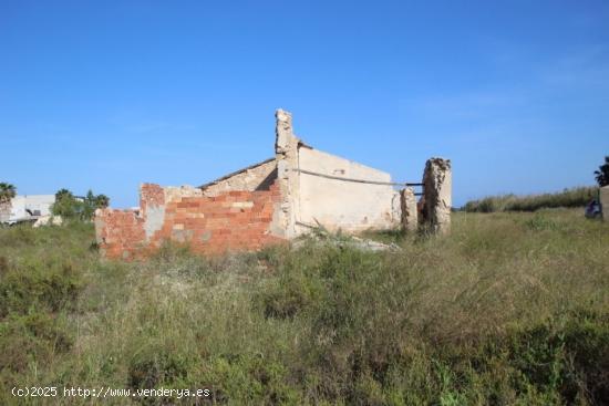
[[[293,134],[290,113],[278,110],[276,119],[273,158],[199,187],[144,184],[137,210],[97,210],[102,253],[142,257],[166,240],[205,253],[259,249],[318,226],[415,230],[425,221],[434,230],[448,229],[448,160],[427,162],[417,207],[414,190],[395,190],[389,174],[306,145]]]

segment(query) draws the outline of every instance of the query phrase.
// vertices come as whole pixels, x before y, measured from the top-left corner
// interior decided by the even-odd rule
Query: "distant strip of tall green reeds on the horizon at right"
[[[463,209],[468,212],[536,211],[544,208],[585,207],[598,197],[598,187],[584,186],[543,195],[489,196],[468,201]]]

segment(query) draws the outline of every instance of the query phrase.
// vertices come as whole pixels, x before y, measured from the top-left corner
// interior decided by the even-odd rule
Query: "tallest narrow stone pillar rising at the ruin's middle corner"
[[[293,135],[292,115],[279,108],[276,117],[275,157],[277,177],[281,195],[279,210],[275,210],[271,232],[277,237],[290,239],[296,237],[296,220],[299,196],[298,143]]]

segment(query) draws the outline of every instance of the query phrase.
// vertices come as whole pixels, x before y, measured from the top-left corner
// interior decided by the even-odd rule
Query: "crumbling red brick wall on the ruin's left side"
[[[103,254],[114,259],[145,257],[166,240],[188,244],[202,253],[256,250],[281,241],[269,231],[279,201],[277,184],[269,190],[178,197],[169,201],[165,201],[163,188],[146,184],[141,190],[141,214],[111,209],[97,212],[99,243]],[[151,207],[164,207],[165,214],[162,227],[146,237]]]

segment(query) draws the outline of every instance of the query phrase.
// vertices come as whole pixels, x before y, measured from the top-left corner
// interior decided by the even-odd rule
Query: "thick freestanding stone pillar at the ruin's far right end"
[[[451,160],[431,158],[423,174],[425,223],[432,232],[451,230],[452,171]]]

